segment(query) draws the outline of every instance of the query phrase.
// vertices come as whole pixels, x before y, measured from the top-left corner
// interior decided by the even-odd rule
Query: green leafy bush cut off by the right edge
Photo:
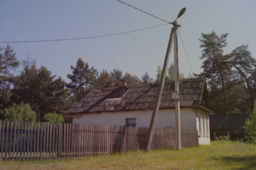
[[[248,135],[248,141],[256,143],[256,101],[252,114],[245,120],[244,128],[245,133]]]

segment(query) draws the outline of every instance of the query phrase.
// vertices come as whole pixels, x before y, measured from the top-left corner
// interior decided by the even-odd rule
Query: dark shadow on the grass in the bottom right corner
[[[233,168],[236,169],[256,169],[256,156],[254,157],[222,157],[222,162],[224,164],[243,164],[242,168]]]

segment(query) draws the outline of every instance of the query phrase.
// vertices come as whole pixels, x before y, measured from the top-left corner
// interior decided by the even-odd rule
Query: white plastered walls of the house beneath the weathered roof
[[[136,118],[137,127],[149,127],[153,111],[126,111],[126,112],[105,112],[73,115],[73,123],[87,123],[95,125],[125,125],[126,118]],[[181,129],[198,130],[199,123],[196,122],[197,115],[201,118],[208,118],[203,111],[195,108],[181,108]],[[203,117],[205,116],[205,117]],[[208,119],[209,120],[209,119]],[[156,128],[176,128],[174,109],[161,109],[156,120]],[[199,134],[199,133],[198,133]],[[210,135],[210,131],[208,133]],[[206,138],[206,139],[204,139]],[[209,141],[207,141],[209,140]],[[199,144],[210,144],[210,137],[199,137]]]

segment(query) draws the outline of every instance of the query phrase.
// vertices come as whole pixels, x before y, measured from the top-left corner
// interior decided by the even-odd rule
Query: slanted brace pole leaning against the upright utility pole
[[[151,143],[152,143],[152,139],[153,139],[153,134],[154,134],[154,127],[156,125],[156,119],[157,119],[157,115],[159,113],[159,106],[161,103],[161,96],[163,93],[163,89],[164,89],[164,81],[166,78],[166,71],[168,68],[168,63],[169,63],[169,57],[170,57],[170,53],[171,53],[171,45],[173,43],[174,40],[174,33],[176,31],[176,28],[173,27],[171,28],[171,34],[170,34],[170,38],[169,38],[169,42],[168,42],[168,47],[166,50],[166,57],[164,60],[164,67],[163,67],[163,71],[161,73],[161,81],[159,84],[159,91],[157,94],[157,98],[156,98],[156,103],[154,105],[154,111],[151,117],[151,121],[150,121],[150,126],[149,126],[149,133],[148,133],[148,143],[146,146],[146,151],[149,151],[151,149]]]

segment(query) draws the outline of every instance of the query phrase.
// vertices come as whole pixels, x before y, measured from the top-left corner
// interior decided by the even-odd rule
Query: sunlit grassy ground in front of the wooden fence
[[[183,148],[181,152],[158,150],[82,160],[0,162],[0,169],[256,169],[256,145],[216,141],[208,146]]]

